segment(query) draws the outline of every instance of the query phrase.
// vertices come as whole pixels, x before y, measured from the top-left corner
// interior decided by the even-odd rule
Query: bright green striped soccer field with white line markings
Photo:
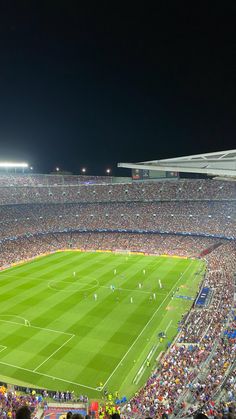
[[[0,378],[130,396],[176,335],[203,270],[200,260],[67,251],[0,272]]]

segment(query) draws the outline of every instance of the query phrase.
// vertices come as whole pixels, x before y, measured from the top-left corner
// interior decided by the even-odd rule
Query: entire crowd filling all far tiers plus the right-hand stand
[[[183,319],[175,343],[124,407],[123,417],[178,417],[201,407],[208,415],[221,414],[226,407],[216,404],[214,396],[223,383],[226,401],[236,398],[231,370],[236,340],[224,334],[236,328],[236,249],[234,240],[220,238],[235,238],[235,183],[103,182],[79,176],[0,176],[0,268],[67,248],[190,257],[211,249],[204,281],[211,291],[208,306],[193,306]],[[33,406],[32,395],[27,397]],[[19,397],[9,398],[1,399],[0,419],[17,408]]]

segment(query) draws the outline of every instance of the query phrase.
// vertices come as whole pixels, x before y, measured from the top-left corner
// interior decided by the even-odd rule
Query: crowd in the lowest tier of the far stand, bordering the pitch
[[[222,240],[225,243],[226,240]],[[221,243],[220,242],[220,243]],[[0,243],[0,268],[61,249],[112,250],[198,257],[216,239],[159,234],[57,233],[20,237]]]

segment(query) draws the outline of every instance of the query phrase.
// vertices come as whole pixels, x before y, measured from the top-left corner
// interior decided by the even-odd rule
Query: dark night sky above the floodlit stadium
[[[235,148],[235,0],[126,3],[1,1],[0,160],[121,174]]]

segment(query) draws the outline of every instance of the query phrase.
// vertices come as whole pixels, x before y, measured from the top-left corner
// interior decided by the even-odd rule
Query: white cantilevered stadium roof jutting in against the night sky
[[[118,167],[236,177],[236,150],[217,151],[214,153],[195,154],[192,156],[139,163],[118,163]]]

